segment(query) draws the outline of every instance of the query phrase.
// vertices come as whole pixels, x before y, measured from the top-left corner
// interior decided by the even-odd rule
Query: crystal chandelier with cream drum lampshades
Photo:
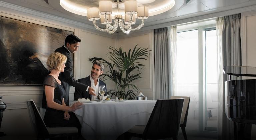
[[[129,34],[130,31],[139,30],[144,25],[144,20],[149,16],[148,7],[139,6],[137,7],[136,0],[127,0],[124,2],[125,15],[123,23],[123,15],[119,12],[119,2],[122,0],[114,0],[117,2],[118,14],[114,15],[114,22],[112,24],[112,1],[99,1],[99,9],[97,7],[91,7],[87,9],[87,18],[89,21],[93,22],[94,27],[102,32],[108,32],[113,34],[118,25],[120,29]],[[136,18],[141,19],[141,24],[135,28],[132,28],[132,25],[136,23]],[[106,28],[100,28],[96,25],[96,20],[101,21],[101,24],[105,24]],[[112,24],[112,25],[111,25]]]

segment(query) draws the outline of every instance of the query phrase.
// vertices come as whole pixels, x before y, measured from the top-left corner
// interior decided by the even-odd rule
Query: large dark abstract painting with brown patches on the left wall
[[[69,34],[0,16],[0,85],[42,85],[48,56]]]

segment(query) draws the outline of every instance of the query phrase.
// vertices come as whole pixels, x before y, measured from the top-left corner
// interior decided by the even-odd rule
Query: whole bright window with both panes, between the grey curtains
[[[215,28],[177,33],[175,96],[190,96],[186,129],[217,131],[217,43]]]

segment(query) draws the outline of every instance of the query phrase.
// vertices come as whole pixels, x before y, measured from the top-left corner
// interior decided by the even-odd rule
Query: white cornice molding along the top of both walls
[[[194,2],[193,0],[191,0],[191,1]],[[189,3],[192,3],[191,1]],[[247,5],[251,5],[251,6],[247,6]],[[189,4],[186,6],[189,6]],[[239,7],[242,7],[242,8],[239,8]],[[225,9],[230,9],[230,10],[224,11],[223,9],[224,9],[223,7],[209,9],[209,10],[202,11],[202,12],[191,13],[191,14],[186,14],[186,15],[182,15],[182,16],[174,16],[174,17],[170,17],[170,18],[168,18],[168,17],[166,18],[166,16],[163,16],[164,14],[162,14],[162,15],[160,14],[161,16],[165,17],[165,19],[156,20],[156,21],[149,20],[150,22],[146,22],[144,24],[144,27],[142,27],[140,30],[133,31],[131,33],[139,33],[141,31],[147,31],[147,30],[187,23],[187,22],[199,21],[199,20],[204,20],[204,19],[209,19],[209,18],[227,16],[227,15],[232,15],[232,14],[236,14],[236,13],[242,13],[242,12],[256,10],[256,0],[249,1],[246,3],[240,3],[238,5],[231,5],[231,6],[225,7]],[[102,36],[106,36],[106,37],[110,37],[110,38],[116,38],[117,36],[121,36],[121,35],[125,36],[125,34],[122,32],[114,33],[114,34],[109,34],[107,32],[101,32],[101,31],[98,31],[97,29],[95,29],[95,27],[91,24],[86,24],[83,22],[78,22],[78,21],[63,18],[60,16],[55,16],[52,14],[39,12],[36,10],[24,8],[22,6],[17,6],[17,5],[10,4],[7,2],[2,2],[2,1],[0,1],[0,12],[14,15],[14,16],[23,17],[23,18],[30,18],[30,19],[40,21],[40,22],[45,22],[48,24],[49,23],[54,24],[56,26],[74,26],[74,28],[81,28],[84,30],[88,30],[90,32],[95,32],[98,35],[102,35]],[[58,11],[56,11],[56,12],[58,12]],[[84,19],[84,20],[86,20],[86,19]]]

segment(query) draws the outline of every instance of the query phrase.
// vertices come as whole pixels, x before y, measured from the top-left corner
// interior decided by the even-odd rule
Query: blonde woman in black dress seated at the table
[[[81,108],[82,103],[66,106],[65,90],[58,79],[60,72],[64,71],[66,61],[67,57],[58,52],[52,53],[47,59],[46,65],[51,73],[45,77],[43,83],[47,102],[44,122],[47,127],[73,126],[80,130],[81,125],[72,111]]]

